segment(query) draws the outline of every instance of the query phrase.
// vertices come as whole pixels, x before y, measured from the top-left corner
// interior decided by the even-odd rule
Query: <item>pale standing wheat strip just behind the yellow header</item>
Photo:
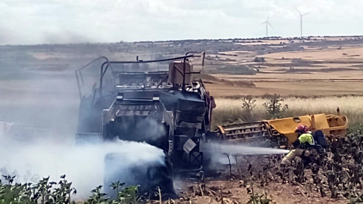
[[[262,104],[268,99],[254,98],[256,105],[251,116],[242,109],[241,99],[216,98],[217,107],[213,110],[212,128],[217,125],[227,125],[235,122],[258,121],[270,119]],[[363,123],[363,96],[344,97],[320,97],[320,98],[284,98],[283,105],[287,104],[288,109],[284,117],[300,116],[306,114],[336,114],[337,107],[341,115],[348,118],[348,126],[355,127]]]

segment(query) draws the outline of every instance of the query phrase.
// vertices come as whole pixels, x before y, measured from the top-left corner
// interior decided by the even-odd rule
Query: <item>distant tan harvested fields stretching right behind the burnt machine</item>
[[[327,41],[329,40],[338,38],[328,38]],[[284,96],[363,95],[362,44],[302,44],[301,47],[304,48],[301,51],[264,55],[258,55],[256,51],[223,52],[215,60],[219,59],[224,64],[248,67],[257,72],[254,75],[242,75],[238,74],[236,68],[235,71],[231,70],[230,74],[215,73],[212,76],[232,82],[254,83],[255,87],[211,81],[207,88],[216,97],[273,93]],[[264,57],[265,62],[254,62],[254,57]],[[225,61],[227,58],[232,61]]]

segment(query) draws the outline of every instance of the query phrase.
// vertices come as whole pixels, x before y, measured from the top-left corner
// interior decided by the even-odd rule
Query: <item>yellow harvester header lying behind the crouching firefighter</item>
[[[218,126],[217,133],[220,140],[228,142],[259,144],[269,141],[272,147],[288,148],[297,139],[295,128],[302,124],[307,125],[311,131],[322,130],[326,136],[340,137],[347,134],[348,119],[340,115],[338,109],[337,115],[303,115]]]

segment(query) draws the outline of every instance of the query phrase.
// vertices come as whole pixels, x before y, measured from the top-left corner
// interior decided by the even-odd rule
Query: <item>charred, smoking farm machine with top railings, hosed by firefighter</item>
[[[201,58],[199,71],[194,70],[191,62],[197,57]],[[203,152],[199,146],[211,130],[212,109],[216,106],[203,81],[193,79],[193,74],[203,70],[204,57],[204,52],[151,61],[109,61],[100,57],[76,70],[81,97],[76,142],[115,138],[146,142],[166,153],[166,161],[172,164],[167,168],[200,171]],[[91,95],[82,96],[82,70],[97,60],[104,60],[99,86],[93,87]],[[125,72],[112,68],[152,62],[169,62],[169,70]],[[111,77],[105,79],[107,71],[111,71]],[[112,154],[105,159],[117,160]]]

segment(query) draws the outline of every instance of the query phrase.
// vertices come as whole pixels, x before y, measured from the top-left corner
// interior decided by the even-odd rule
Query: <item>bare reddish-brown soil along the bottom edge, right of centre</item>
[[[178,201],[183,202],[184,200],[191,200],[194,204],[204,204],[204,203],[221,203],[220,197],[212,195],[201,195],[200,189],[198,189],[200,182],[193,181],[183,181],[185,187],[179,189],[179,193],[182,198]],[[247,193],[246,188],[241,186],[242,181],[230,179],[224,180],[209,180],[206,179],[205,186],[212,189],[217,196],[223,193],[224,203],[247,203],[250,200],[250,194]],[[197,192],[198,196],[193,194]],[[254,192],[260,194],[267,193],[267,197],[272,199],[271,203],[286,203],[286,204],[310,204],[310,203],[334,203],[334,204],[346,204],[348,200],[343,199],[331,199],[329,197],[321,197],[319,192],[303,192],[302,188],[297,185],[291,184],[281,184],[281,183],[271,183],[265,187],[254,187]],[[177,201],[177,203],[178,203]]]

